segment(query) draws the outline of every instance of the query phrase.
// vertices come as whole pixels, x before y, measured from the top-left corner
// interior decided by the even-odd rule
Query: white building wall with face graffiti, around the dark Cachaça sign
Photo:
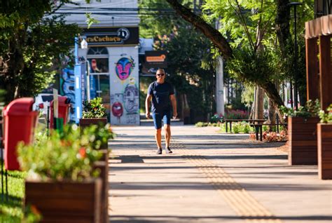
[[[101,27],[138,27],[137,0],[92,0],[87,4],[85,0],[74,0],[79,6],[66,4],[59,13],[68,13],[67,23],[76,23],[87,28],[85,13],[98,20],[90,29]],[[89,29],[88,29],[89,30]],[[138,40],[137,40],[138,41]],[[73,36],[74,43],[74,36]],[[88,46],[89,47],[89,46]],[[106,46],[109,51],[109,114],[113,125],[139,125],[139,52],[135,46]],[[88,50],[78,50],[78,57],[87,58]],[[120,68],[117,63],[122,63]],[[127,68],[125,68],[127,67]],[[119,69],[127,69],[122,76]],[[105,102],[104,102],[105,103]]]

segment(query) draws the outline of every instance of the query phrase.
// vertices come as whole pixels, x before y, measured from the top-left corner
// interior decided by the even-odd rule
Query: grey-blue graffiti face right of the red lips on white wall
[[[139,90],[134,84],[128,84],[123,93],[123,102],[125,103],[125,111],[128,114],[135,114],[139,109]]]

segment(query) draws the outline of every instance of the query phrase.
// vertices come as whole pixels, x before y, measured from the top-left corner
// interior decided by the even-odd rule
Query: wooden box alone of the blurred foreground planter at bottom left
[[[41,222],[99,223],[101,195],[99,178],[84,182],[25,182],[25,204],[41,212]]]

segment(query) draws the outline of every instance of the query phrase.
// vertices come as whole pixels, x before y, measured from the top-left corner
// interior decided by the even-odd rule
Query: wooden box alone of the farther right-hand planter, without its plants
[[[289,165],[317,165],[318,117],[288,118]]]

